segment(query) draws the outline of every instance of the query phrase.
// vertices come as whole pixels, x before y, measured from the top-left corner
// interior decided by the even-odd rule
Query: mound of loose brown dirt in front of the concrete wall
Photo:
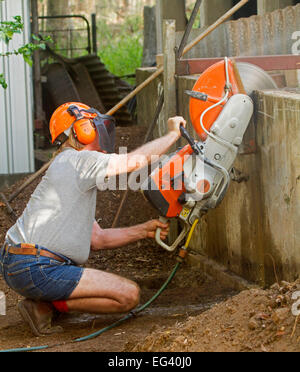
[[[151,333],[143,342],[127,344],[144,352],[299,352],[300,325],[291,308],[295,283],[269,290],[251,289],[192,316],[176,327]]]

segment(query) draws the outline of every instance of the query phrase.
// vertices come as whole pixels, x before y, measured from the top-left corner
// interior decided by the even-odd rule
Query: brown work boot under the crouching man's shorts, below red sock
[[[18,304],[18,310],[35,336],[39,337],[63,332],[62,327],[52,327],[51,325],[54,311],[50,303],[26,299]]]

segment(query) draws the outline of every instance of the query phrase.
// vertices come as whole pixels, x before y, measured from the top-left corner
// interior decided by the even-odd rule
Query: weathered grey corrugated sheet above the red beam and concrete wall
[[[193,30],[190,41],[202,31]],[[300,31],[300,4],[263,16],[226,22],[184,58],[292,54],[292,46],[295,43],[292,35],[295,31]],[[177,33],[178,44],[181,38],[182,33]]]

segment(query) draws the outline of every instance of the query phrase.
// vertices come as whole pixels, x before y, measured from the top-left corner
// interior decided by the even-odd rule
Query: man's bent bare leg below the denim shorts
[[[140,288],[131,280],[99,270],[85,269],[67,300],[69,311],[108,314],[123,313],[139,304]]]

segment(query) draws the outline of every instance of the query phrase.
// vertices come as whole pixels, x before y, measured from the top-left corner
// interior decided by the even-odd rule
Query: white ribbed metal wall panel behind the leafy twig
[[[23,18],[24,32],[15,35],[9,45],[17,49],[30,38],[29,1],[4,1],[0,4],[1,20]],[[1,50],[7,50],[2,42]],[[0,174],[34,171],[33,95],[31,69],[21,56],[2,57],[0,73],[5,74],[7,90],[0,87]]]

